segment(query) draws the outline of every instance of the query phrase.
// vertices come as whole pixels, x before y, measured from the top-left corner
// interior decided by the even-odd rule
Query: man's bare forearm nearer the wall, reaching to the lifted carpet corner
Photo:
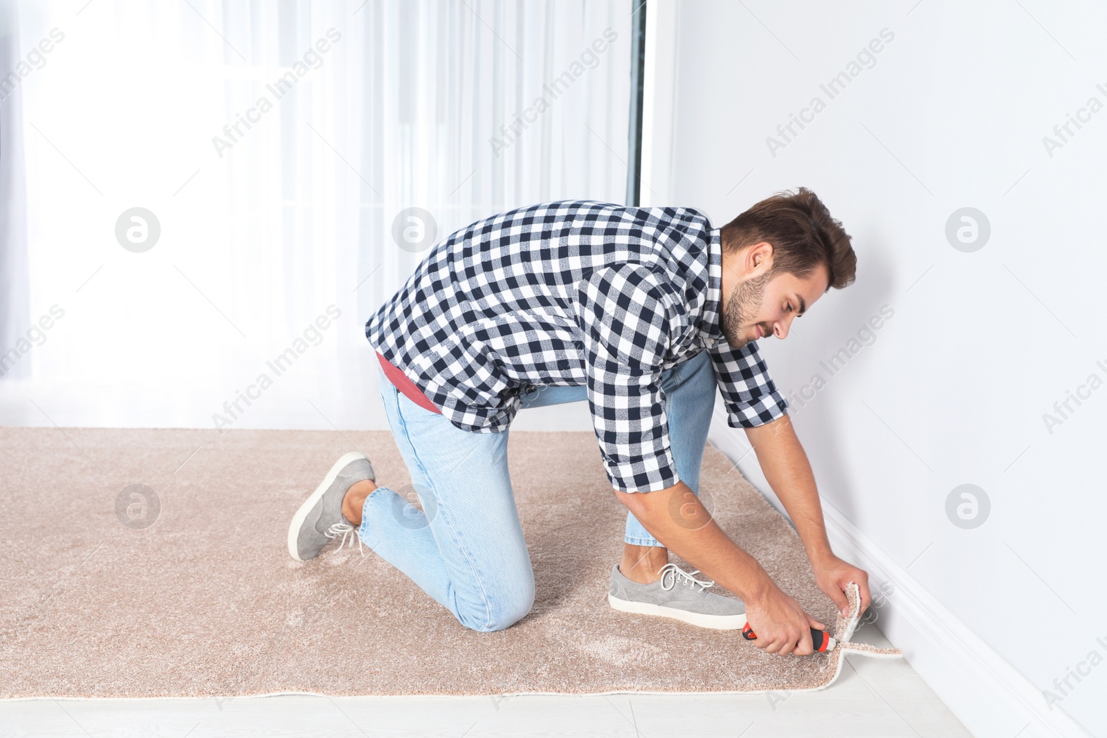
[[[784,415],[769,424],[748,428],[746,436],[757,454],[765,480],[788,511],[807,558],[815,563],[832,557],[815,475],[792,419]]]

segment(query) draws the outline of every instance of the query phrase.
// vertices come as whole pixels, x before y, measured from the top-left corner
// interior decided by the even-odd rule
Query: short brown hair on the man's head
[[[773,245],[772,276],[790,273],[807,279],[819,264],[827,269],[830,288],[849,287],[857,277],[857,254],[840,220],[811,190],[784,190],[766,198],[723,226],[723,251],[754,243]]]

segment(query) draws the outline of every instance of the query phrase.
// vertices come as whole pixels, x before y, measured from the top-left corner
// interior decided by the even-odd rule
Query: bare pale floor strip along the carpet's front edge
[[[875,625],[855,641],[889,645]],[[335,668],[343,664],[335,653]],[[970,736],[903,659],[848,656],[820,692],[0,701],[0,736]]]

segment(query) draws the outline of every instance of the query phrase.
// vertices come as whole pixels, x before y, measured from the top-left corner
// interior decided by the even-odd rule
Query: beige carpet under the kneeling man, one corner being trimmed
[[[381,432],[0,428],[0,698],[819,689],[844,649],[899,655],[774,656],[737,632],[612,611],[625,512],[589,433],[513,433],[537,600],[506,631],[467,631],[368,549],[288,555],[292,512],[352,447],[382,484],[407,481]],[[117,503],[132,485],[157,495],[146,528],[153,505]],[[702,489],[848,640],[856,619],[837,616],[792,527],[714,447]]]

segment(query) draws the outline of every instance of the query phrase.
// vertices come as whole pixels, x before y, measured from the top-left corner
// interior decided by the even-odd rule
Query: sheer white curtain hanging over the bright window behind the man
[[[231,413],[242,427],[302,425],[312,397],[352,418],[340,395],[373,384],[362,326],[434,241],[541,200],[624,200],[632,10],[21,6],[4,62],[52,42],[2,103],[27,267],[6,241],[25,291],[6,294],[0,351],[62,316],[0,382],[8,422],[49,424],[21,376],[60,425],[211,425],[242,394],[263,395]]]

